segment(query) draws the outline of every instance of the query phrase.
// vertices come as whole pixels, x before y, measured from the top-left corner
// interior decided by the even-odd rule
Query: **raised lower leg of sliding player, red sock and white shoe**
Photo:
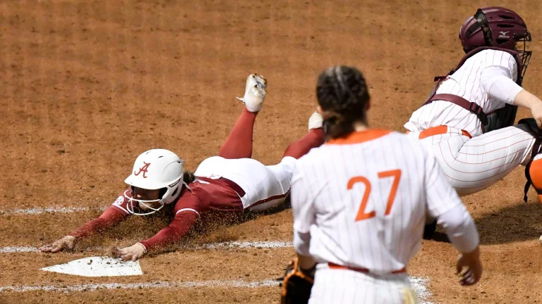
[[[245,108],[237,119],[234,128],[220,147],[219,156],[223,158],[251,158],[254,121],[265,100],[267,80],[258,75],[249,75],[243,97]]]

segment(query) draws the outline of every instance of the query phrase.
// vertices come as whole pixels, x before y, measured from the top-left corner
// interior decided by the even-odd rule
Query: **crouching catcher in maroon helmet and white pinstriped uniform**
[[[531,51],[524,20],[507,8],[478,9],[459,30],[466,56],[438,80],[404,127],[430,147],[459,195],[495,184],[526,165],[528,184],[542,200],[542,101],[521,87]],[[534,119],[513,125],[517,106]],[[524,197],[526,201],[526,195]]]

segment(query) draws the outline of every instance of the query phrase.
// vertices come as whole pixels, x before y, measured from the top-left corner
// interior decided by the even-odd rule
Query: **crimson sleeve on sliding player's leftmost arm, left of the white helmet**
[[[128,191],[128,190],[126,190]],[[77,239],[83,239],[86,236],[101,232],[109,227],[119,224],[130,213],[126,209],[128,199],[123,195],[116,198],[113,205],[105,210],[100,217],[91,220],[82,227],[79,227],[75,231],[71,232],[71,236],[75,236]]]

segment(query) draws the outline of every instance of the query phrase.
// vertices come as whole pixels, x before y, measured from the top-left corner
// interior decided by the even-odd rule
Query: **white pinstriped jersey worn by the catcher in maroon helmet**
[[[485,68],[500,67],[514,82],[517,80],[517,62],[510,53],[484,50],[467,59],[459,70],[447,77],[437,94],[454,94],[477,103],[485,113],[505,106],[505,101],[490,96],[483,89],[482,72]],[[421,132],[430,127],[447,125],[469,132],[473,137],[482,134],[481,122],[476,115],[449,101],[433,101],[412,113],[404,127],[410,132]]]

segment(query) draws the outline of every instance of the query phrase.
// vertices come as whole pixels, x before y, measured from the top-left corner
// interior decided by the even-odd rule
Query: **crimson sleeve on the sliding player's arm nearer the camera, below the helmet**
[[[140,241],[140,243],[147,248],[147,251],[152,251],[180,241],[200,218],[200,213],[203,213],[203,211],[205,211],[205,207],[198,199],[198,196],[185,190],[175,204],[175,217],[171,223],[155,236]]]

